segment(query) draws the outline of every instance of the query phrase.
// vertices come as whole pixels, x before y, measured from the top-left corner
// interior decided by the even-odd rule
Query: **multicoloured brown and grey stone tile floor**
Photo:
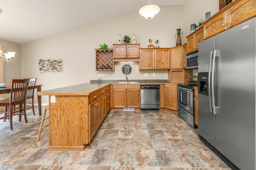
[[[178,115],[166,111],[109,111],[82,152],[48,151],[48,130],[36,138],[42,116],[0,120],[0,169],[229,170]],[[45,123],[47,123],[45,121]],[[7,168],[6,168],[7,166]]]

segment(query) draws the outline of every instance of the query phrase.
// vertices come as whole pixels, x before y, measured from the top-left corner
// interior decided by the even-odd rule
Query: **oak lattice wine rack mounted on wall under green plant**
[[[113,49],[95,49],[96,70],[114,70]]]

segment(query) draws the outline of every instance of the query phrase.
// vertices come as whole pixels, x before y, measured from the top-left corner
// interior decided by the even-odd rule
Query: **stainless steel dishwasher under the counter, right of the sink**
[[[160,108],[160,85],[140,85],[140,108]]]

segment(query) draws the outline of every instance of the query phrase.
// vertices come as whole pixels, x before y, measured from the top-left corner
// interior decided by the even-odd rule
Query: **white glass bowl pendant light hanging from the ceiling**
[[[150,20],[153,18],[158,12],[160,11],[159,6],[156,5],[151,5],[151,1],[148,0],[148,5],[143,6],[139,10],[139,14],[141,16],[144,16],[146,19]]]

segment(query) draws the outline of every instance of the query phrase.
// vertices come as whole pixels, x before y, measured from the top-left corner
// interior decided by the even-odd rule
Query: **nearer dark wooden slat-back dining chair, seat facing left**
[[[11,130],[13,115],[19,115],[19,121],[21,121],[21,115],[24,115],[25,122],[28,123],[26,115],[26,94],[29,81],[29,79],[13,79],[10,98],[0,99],[0,106],[5,107],[4,115],[0,119],[9,119]],[[18,110],[13,109],[16,105],[19,105]]]

